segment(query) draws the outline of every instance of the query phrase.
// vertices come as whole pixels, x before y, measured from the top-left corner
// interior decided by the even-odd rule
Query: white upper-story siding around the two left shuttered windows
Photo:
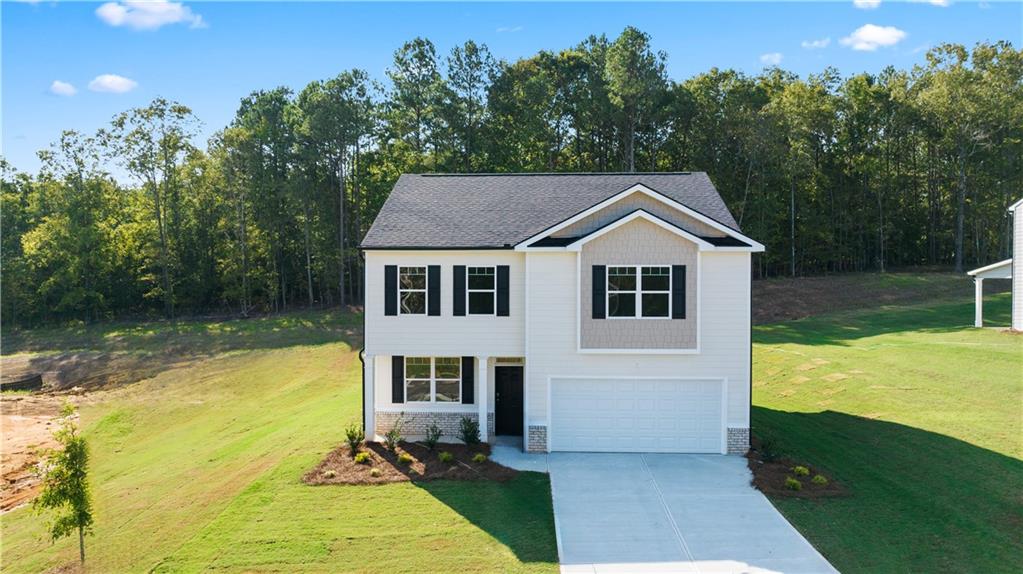
[[[525,259],[505,251],[367,251],[367,355],[521,357],[524,353]],[[441,266],[441,314],[384,314],[384,266]],[[509,316],[452,315],[455,265],[507,265]],[[379,378],[377,378],[379,379]],[[386,381],[389,381],[387,379]]]

